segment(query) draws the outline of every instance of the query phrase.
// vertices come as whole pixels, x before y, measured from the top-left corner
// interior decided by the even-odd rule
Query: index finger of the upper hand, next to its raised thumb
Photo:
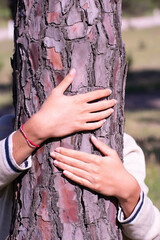
[[[84,102],[95,101],[100,98],[108,97],[112,91],[110,89],[95,90],[85,94],[79,95]]]

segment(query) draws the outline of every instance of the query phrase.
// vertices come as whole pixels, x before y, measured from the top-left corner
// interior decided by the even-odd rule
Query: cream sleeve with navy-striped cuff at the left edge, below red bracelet
[[[12,154],[12,135],[13,133],[0,141],[0,189],[7,186],[32,165],[31,157],[26,159],[20,166],[17,165]]]

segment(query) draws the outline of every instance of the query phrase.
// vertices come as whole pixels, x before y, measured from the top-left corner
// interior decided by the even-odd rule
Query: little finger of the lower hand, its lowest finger
[[[71,173],[71,172],[69,172],[69,171],[67,171],[67,170],[63,171],[63,174],[64,174],[67,178],[69,178],[70,180],[72,180],[73,182],[76,182],[76,183],[78,183],[78,184],[80,184],[80,185],[82,185],[82,186],[84,186],[84,187],[87,187],[87,188],[93,190],[93,184],[92,184],[90,181],[88,181],[88,180],[86,180],[86,179],[84,179],[84,178],[81,178],[81,177],[79,177],[79,176],[76,176],[76,175],[74,175],[73,173]]]

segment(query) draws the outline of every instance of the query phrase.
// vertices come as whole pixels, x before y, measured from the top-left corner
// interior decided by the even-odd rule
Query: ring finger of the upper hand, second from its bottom
[[[95,122],[103,120],[109,117],[114,112],[113,108],[107,109],[105,111],[90,113],[87,115],[86,122]]]

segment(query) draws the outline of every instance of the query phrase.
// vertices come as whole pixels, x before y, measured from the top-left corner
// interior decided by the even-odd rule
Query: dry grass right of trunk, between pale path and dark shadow
[[[131,58],[131,70],[160,69],[160,28],[124,31],[123,42]]]

